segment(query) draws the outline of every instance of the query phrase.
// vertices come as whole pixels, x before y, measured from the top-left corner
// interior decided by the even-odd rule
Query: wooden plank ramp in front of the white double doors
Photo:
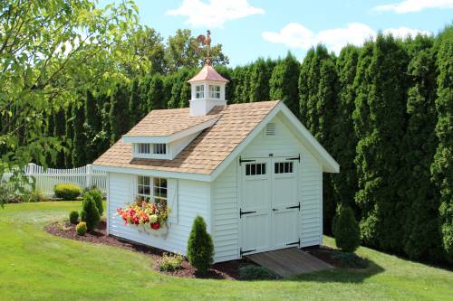
[[[273,270],[282,277],[289,277],[304,273],[310,273],[323,269],[331,269],[333,266],[302,249],[276,249],[269,252],[247,255],[247,259]]]

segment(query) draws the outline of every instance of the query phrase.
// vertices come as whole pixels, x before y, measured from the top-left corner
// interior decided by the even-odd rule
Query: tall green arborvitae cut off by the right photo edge
[[[439,36],[436,135],[439,146],[432,165],[440,190],[440,232],[447,259],[453,262],[453,26]]]

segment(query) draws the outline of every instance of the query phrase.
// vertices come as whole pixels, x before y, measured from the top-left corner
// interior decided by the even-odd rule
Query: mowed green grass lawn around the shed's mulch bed
[[[0,300],[453,300],[453,272],[366,248],[358,252],[373,263],[361,271],[257,282],[163,276],[145,255],[43,231],[80,206],[40,202],[0,209]]]

